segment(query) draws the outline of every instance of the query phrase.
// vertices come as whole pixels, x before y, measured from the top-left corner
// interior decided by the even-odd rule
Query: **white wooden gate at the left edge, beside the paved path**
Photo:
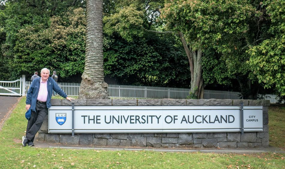
[[[22,96],[25,91],[25,75],[14,81],[0,81],[0,95]]]

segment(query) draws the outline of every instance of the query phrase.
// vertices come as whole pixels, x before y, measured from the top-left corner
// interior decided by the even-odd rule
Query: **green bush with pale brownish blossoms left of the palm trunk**
[[[50,19],[43,24],[26,26],[16,34],[14,74],[27,74],[47,67],[61,77],[82,73],[85,58],[85,14],[82,8]]]

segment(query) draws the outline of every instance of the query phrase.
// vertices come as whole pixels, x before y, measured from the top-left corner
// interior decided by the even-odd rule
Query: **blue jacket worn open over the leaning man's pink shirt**
[[[27,93],[26,104],[31,104],[31,110],[33,111],[36,111],[36,101],[40,90],[40,83],[41,83],[41,77],[34,79]],[[52,90],[54,90],[64,98],[67,97],[67,94],[65,94],[64,91],[60,89],[58,84],[51,77],[49,77],[47,80],[47,98],[46,98],[47,108],[51,106],[50,100],[52,98]]]

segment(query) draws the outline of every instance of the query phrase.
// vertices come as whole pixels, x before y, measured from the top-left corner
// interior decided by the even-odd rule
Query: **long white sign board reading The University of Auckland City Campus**
[[[244,131],[262,131],[262,106],[244,106]],[[49,133],[241,131],[240,106],[52,106]]]

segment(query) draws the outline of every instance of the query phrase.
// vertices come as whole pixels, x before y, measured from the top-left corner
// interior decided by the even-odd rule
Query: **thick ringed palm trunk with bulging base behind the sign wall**
[[[79,98],[107,99],[103,71],[103,0],[86,1],[86,54]]]

